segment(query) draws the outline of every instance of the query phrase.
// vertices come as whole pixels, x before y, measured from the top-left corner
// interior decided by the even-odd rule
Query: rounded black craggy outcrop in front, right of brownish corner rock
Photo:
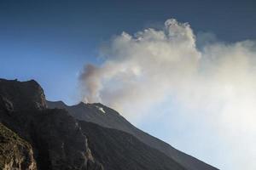
[[[102,169],[95,163],[79,123],[67,111],[41,111],[31,124],[40,169]]]

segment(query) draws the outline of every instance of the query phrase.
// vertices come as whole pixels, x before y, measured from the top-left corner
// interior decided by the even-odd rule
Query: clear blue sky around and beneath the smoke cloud
[[[79,102],[79,72],[89,63],[102,65],[102,59],[96,58],[99,48],[122,31],[132,35],[148,27],[160,28],[167,19],[175,18],[181,23],[189,22],[195,35],[210,32],[225,43],[255,40],[255,8],[255,1],[1,0],[0,77],[35,79],[44,88],[47,99],[73,105]],[[152,116],[163,105],[169,109]],[[166,114],[168,111],[176,114]],[[166,117],[172,123],[165,122]],[[222,156],[225,145],[216,150],[222,141],[212,139],[214,134],[206,134],[217,133],[211,131],[214,126],[184,117],[175,102],[165,101],[155,105],[144,121],[130,120],[213,166],[235,169]],[[199,142],[199,138],[206,139]]]

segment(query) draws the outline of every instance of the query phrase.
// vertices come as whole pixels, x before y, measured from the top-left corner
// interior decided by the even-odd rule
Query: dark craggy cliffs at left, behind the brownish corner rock
[[[91,156],[79,122],[67,111],[47,109],[44,91],[35,81],[0,79],[0,121],[32,144],[39,170],[103,169]]]

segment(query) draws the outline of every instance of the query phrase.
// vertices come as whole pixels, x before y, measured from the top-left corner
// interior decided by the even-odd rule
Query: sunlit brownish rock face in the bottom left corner
[[[37,170],[31,144],[0,123],[0,169]]]

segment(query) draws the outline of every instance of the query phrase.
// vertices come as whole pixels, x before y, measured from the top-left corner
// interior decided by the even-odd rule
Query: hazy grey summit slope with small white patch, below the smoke
[[[120,116],[117,111],[108,108],[102,104],[84,104],[68,106],[62,101],[50,102],[47,101],[49,108],[62,108],[66,109],[70,114],[79,120],[86,122],[94,122],[102,127],[109,127],[124,131],[132,134],[134,137],[142,141],[148,146],[160,150],[173,160],[177,161],[183,167],[188,170],[217,170],[216,167],[212,167],[207,163],[196,159],[193,156],[189,156],[182,151],[176,150],[170,144],[166,144],[160,139],[156,139],[148,133],[144,133],[142,130],[134,127],[130,122],[126,121],[123,116]]]

